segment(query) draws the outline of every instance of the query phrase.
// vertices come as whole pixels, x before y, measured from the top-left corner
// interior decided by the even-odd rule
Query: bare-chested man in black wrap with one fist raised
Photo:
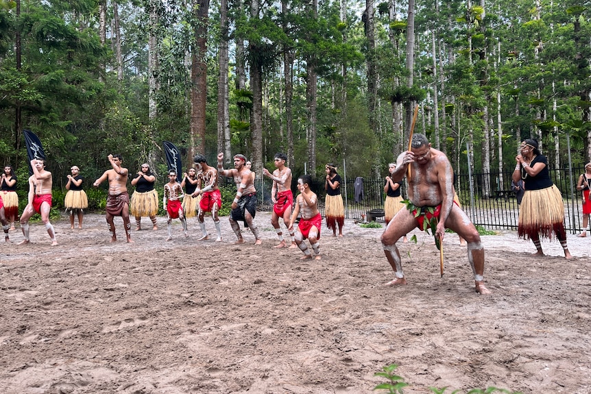
[[[248,224],[250,231],[254,234],[256,240],[254,245],[261,245],[263,242],[259,238],[258,229],[252,221],[256,214],[256,189],[252,183],[252,177],[250,177],[250,170],[244,164],[246,164],[245,156],[238,154],[234,156],[234,168],[225,170],[224,153],[217,153],[217,171],[225,177],[233,177],[237,187],[236,197],[232,201],[232,212],[230,212],[230,225],[238,238],[237,243],[244,243],[240,225],[238,224],[238,221],[241,220]]]

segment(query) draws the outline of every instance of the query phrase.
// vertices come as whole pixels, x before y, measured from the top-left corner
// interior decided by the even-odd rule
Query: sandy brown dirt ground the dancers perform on
[[[104,217],[83,230],[42,224],[29,245],[11,232],[0,252],[0,392],[12,393],[372,393],[391,363],[405,393],[496,386],[523,393],[591,393],[591,238],[570,251],[514,232],[483,236],[485,280],[455,234],[444,240],[445,274],[432,238],[400,243],[409,284],[394,278],[383,229],[346,221],[343,238],[322,229],[322,260],[274,249],[270,215],[258,212],[263,245],[197,242],[174,221],[109,243]],[[149,219],[143,219],[144,225]],[[206,219],[210,233],[215,227]]]

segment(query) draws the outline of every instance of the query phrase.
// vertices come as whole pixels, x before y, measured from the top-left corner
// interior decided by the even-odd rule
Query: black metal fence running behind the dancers
[[[581,229],[582,208],[581,193],[577,192],[577,180],[584,173],[582,167],[572,169],[551,169],[554,184],[562,193],[564,201],[564,225],[567,231],[578,232]],[[571,177],[572,174],[572,177]],[[481,225],[490,230],[516,230],[518,224],[518,205],[513,192],[511,192],[512,172],[503,173],[476,173],[472,174],[472,193],[470,193],[470,176],[460,174],[455,177],[455,188],[461,202],[461,208],[472,219],[475,225]],[[342,176],[342,175],[341,175]],[[292,180],[291,190],[297,180],[295,175]],[[224,177],[222,177],[224,179]],[[357,187],[356,182],[362,182]],[[489,183],[486,193],[485,183]],[[572,188],[571,188],[572,182]],[[227,179],[222,184],[233,184],[232,179]],[[268,177],[256,177],[256,190],[258,197],[258,210],[270,211],[273,209],[271,201],[272,180]],[[385,179],[364,179],[359,177],[343,179],[341,195],[345,203],[346,219],[361,219],[362,215],[371,210],[380,210],[384,207]],[[361,189],[360,189],[361,187]],[[315,181],[311,189],[319,197],[318,208],[324,217],[324,180]],[[362,193],[359,193],[359,191]],[[297,193],[294,193],[294,196]],[[406,197],[406,186],[402,185],[402,196]]]

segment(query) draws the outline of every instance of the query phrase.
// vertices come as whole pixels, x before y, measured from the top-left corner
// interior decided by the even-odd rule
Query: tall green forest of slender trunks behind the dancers
[[[380,177],[415,132],[454,170],[511,171],[538,138],[551,167],[591,158],[591,1],[0,0],[0,158],[54,187],[121,153],[132,173],[243,153],[261,173],[346,163]],[[468,154],[467,154],[468,153]],[[466,160],[468,157],[468,160]],[[160,176],[159,182],[165,182]],[[484,194],[492,193],[485,184]]]

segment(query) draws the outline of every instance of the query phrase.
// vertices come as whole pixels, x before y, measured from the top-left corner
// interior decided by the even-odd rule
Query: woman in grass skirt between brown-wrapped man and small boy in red
[[[136,190],[132,195],[130,213],[136,218],[136,230],[141,230],[141,220],[147,216],[152,221],[152,230],[158,230],[156,214],[158,214],[158,191],[154,188],[156,177],[147,163],[142,164],[141,171],[132,179]]]

